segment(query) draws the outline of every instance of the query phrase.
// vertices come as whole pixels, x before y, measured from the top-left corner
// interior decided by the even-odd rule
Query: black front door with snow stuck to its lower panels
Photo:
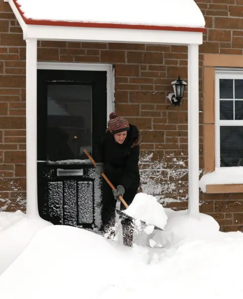
[[[38,209],[58,225],[100,226],[100,178],[92,155],[106,129],[106,72],[37,71]]]

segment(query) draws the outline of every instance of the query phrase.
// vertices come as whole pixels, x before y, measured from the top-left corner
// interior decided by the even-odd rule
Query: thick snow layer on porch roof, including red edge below
[[[13,1],[26,24],[155,30],[173,27],[169,30],[199,32],[205,30],[204,16],[194,0]]]

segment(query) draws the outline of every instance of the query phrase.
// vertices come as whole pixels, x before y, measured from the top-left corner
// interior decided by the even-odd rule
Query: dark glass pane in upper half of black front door
[[[48,85],[48,144],[50,161],[87,159],[92,148],[92,86]]]

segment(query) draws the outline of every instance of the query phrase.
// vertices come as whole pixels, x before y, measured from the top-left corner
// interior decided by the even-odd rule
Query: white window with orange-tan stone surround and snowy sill
[[[204,166],[204,192],[243,192],[242,55],[205,54]]]

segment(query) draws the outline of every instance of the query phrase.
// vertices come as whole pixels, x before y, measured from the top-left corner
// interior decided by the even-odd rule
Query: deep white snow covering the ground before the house
[[[0,269],[7,268],[0,298],[240,297],[242,233],[221,233],[204,214],[196,219],[165,211],[168,222],[153,235],[154,248],[136,242],[125,247],[83,229],[27,219],[20,211],[0,213]]]

